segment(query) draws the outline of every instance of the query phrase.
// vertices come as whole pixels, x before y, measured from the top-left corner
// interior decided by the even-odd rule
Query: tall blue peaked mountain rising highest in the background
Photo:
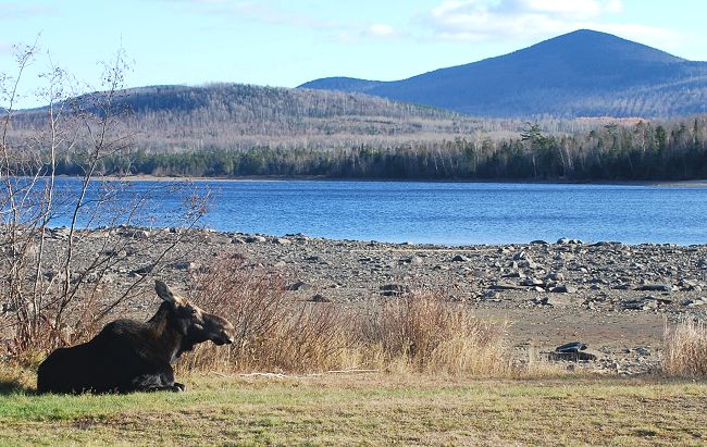
[[[707,112],[707,62],[588,29],[408,79],[348,77],[299,88],[365,92],[496,117],[669,117]]]

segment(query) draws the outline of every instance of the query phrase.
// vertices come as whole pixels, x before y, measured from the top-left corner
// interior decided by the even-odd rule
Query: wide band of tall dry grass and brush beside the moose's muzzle
[[[204,344],[181,367],[238,372],[375,369],[507,375],[505,327],[438,293],[412,291],[361,308],[298,302],[275,273],[237,254],[195,277],[191,299],[228,319],[236,342]]]

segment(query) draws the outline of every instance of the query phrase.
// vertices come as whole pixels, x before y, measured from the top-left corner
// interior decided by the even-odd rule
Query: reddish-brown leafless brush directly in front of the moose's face
[[[337,308],[293,300],[280,274],[236,253],[196,276],[191,299],[228,319],[236,339],[228,350],[202,347],[186,368],[318,371],[335,368],[345,348]]]

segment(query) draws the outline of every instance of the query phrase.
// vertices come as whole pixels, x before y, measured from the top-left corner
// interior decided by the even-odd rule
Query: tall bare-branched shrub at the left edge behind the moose
[[[97,178],[103,159],[131,147],[119,120],[125,111],[116,105],[127,71],[125,54],[119,51],[104,65],[102,91],[91,95],[75,95],[70,76],[50,66],[40,75],[47,87],[39,97],[48,105],[35,114],[36,132],[10,138],[22,75],[37,51],[36,44],[18,49],[16,75],[0,74],[0,350],[15,357],[89,337],[110,312],[139,293],[147,276],[136,277],[117,296],[104,297],[102,280],[117,262],[115,253],[124,241],[108,237],[108,229],[100,239],[84,229],[131,225],[147,213],[145,197],[150,191],[131,200],[129,183]],[[55,172],[69,154],[82,162],[66,190]],[[204,200],[208,197],[200,196],[185,203],[187,227],[206,212]],[[65,225],[59,238],[58,222]],[[99,254],[77,259],[88,244],[97,246],[94,252]],[[163,264],[173,247],[149,251],[152,245],[144,244],[150,272]]]

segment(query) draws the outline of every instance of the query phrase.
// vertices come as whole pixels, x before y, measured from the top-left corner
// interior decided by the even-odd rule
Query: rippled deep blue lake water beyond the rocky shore
[[[59,186],[72,190],[78,182],[61,178]],[[560,237],[707,244],[707,188],[700,187],[203,181],[186,189],[135,182],[116,204],[148,193],[150,216],[136,223],[174,226],[188,190],[210,190],[202,224],[219,231],[447,245]],[[66,216],[53,222],[66,223]]]

